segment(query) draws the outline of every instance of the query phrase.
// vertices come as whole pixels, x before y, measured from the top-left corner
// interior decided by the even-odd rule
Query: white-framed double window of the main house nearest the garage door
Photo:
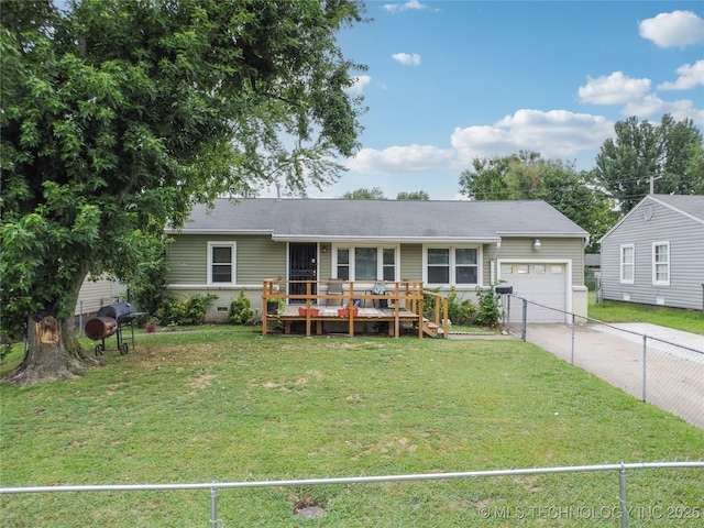
[[[424,256],[428,284],[452,286],[479,284],[479,249],[428,248]]]

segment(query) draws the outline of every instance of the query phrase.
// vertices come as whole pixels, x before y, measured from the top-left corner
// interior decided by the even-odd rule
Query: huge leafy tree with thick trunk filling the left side
[[[63,2],[64,3],[64,2]],[[2,0],[2,333],[9,378],[75,375],[86,275],[125,278],[194,202],[334,180],[361,100],[353,0]]]

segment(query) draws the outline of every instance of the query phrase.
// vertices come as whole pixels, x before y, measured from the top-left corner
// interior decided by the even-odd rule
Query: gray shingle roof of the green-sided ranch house
[[[228,199],[196,206],[184,233],[271,233],[278,240],[495,241],[501,237],[585,238],[587,232],[541,200],[410,201]]]

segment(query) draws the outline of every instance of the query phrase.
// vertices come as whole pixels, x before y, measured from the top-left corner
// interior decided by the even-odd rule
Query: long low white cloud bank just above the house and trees
[[[348,168],[365,174],[411,174],[470,166],[475,157],[536,151],[546,157],[575,156],[598,148],[614,133],[614,123],[601,116],[565,110],[518,110],[494,125],[457,128],[451,148],[433,145],[363,148]]]

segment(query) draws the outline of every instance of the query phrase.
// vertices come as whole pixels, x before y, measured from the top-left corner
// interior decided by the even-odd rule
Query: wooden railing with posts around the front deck
[[[342,283],[341,293],[329,293],[331,284]],[[375,286],[383,285],[384,293],[375,293]],[[296,292],[296,293],[292,293]],[[432,295],[435,299],[433,317],[426,318],[424,315],[425,299],[427,295]],[[287,280],[282,278],[268,278],[264,280],[262,288],[262,306],[266,312],[263,318],[262,334],[266,336],[267,320],[280,317],[278,304],[296,305],[306,308],[306,336],[311,333],[310,308],[327,306],[330,301],[340,302],[342,307],[350,309],[349,333],[354,336],[354,307],[393,305],[394,336],[399,336],[399,324],[402,314],[408,320],[408,315],[418,323],[418,337],[422,338],[427,323],[432,322],[436,328],[443,328],[442,337],[448,334],[448,299],[437,293],[425,290],[422,280]],[[270,305],[273,304],[273,305]],[[271,306],[271,308],[270,308]],[[294,316],[295,317],[295,316]],[[363,316],[356,317],[358,321],[365,320]],[[435,319],[435,321],[432,321]],[[302,317],[301,317],[302,320]],[[369,320],[369,319],[367,319]]]

